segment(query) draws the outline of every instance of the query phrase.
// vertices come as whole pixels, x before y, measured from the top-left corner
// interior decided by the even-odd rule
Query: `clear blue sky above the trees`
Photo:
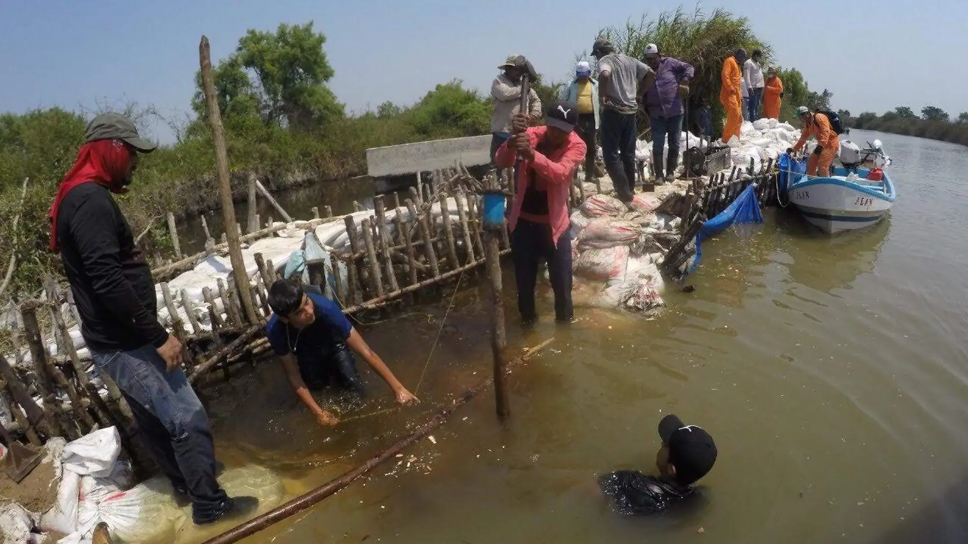
[[[249,28],[316,21],[348,110],[411,104],[439,82],[486,90],[508,54],[529,56],[553,79],[599,28],[657,14],[677,2],[610,0],[234,0],[0,3],[0,110],[154,105],[173,121],[190,112],[202,34],[216,59]],[[687,11],[695,4],[682,4]],[[966,0],[704,3],[749,17],[776,61],[854,113],[907,105],[968,110]],[[822,17],[813,14],[823,14]],[[172,134],[154,129],[163,141]]]

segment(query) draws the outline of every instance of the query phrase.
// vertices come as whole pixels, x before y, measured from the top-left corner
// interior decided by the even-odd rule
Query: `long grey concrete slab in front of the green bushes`
[[[491,135],[418,141],[366,150],[367,173],[373,177],[429,171],[455,163],[465,166],[491,162]]]

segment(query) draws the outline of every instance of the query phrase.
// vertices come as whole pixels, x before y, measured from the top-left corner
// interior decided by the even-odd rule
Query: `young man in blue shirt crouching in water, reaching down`
[[[321,425],[336,425],[339,419],[320,408],[310,390],[332,384],[363,392],[356,360],[349,348],[359,353],[386,381],[398,403],[417,400],[367,346],[334,302],[306,292],[297,282],[279,280],[269,289],[269,306],[273,313],[265,326],[269,344],[279,357],[296,396],[316,414]]]

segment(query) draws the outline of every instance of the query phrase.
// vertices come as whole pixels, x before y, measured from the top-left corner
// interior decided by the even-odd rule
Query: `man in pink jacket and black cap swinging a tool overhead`
[[[518,284],[518,311],[525,322],[537,318],[534,287],[538,263],[548,262],[555,291],[555,317],[570,321],[571,234],[568,227],[568,191],[576,168],[585,159],[585,142],[575,133],[578,108],[560,102],[548,108],[545,124],[528,127],[527,115],[515,115],[514,136],[502,144],[495,157],[500,168],[517,168],[517,192],[511,206],[511,252]]]

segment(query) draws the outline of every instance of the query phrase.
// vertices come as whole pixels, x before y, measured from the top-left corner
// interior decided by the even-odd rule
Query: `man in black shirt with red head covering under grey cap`
[[[116,113],[87,126],[75,166],[50,207],[50,249],[59,251],[94,362],[125,395],[138,430],[196,524],[255,509],[229,499],[215,479],[208,416],[182,372],[182,346],[158,322],[155,284],[131,227],[110,193],[127,193],[138,153],[155,145]]]

